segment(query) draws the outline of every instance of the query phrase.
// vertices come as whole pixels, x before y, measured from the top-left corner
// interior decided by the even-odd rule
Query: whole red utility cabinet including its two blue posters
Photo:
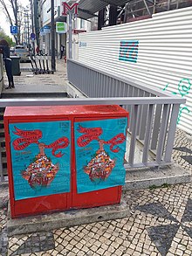
[[[116,105],[6,107],[11,218],[119,204],[127,120]]]

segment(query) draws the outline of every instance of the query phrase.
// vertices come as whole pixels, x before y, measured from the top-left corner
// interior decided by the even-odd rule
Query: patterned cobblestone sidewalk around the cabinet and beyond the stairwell
[[[65,90],[65,66],[58,60],[53,75],[15,77],[15,91]],[[37,92],[37,91],[36,91]],[[173,157],[185,170],[192,170],[192,135],[177,129]],[[6,193],[5,189],[5,193]],[[123,199],[131,217],[89,225],[7,237],[7,202],[0,204],[0,255],[69,256],[182,256],[192,252],[191,183],[128,190]]]

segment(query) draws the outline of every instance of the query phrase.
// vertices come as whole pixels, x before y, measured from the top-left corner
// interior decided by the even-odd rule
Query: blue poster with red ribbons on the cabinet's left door
[[[13,123],[10,152],[15,200],[70,191],[70,121]]]

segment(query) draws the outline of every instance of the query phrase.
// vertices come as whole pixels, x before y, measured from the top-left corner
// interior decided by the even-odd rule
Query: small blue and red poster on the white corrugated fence
[[[137,62],[139,41],[137,40],[123,40],[120,41],[120,55],[119,60]]]

